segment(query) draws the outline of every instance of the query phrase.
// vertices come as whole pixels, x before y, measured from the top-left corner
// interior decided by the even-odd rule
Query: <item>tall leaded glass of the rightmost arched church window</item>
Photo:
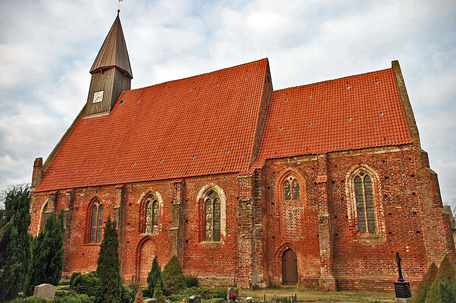
[[[353,183],[355,187],[359,231],[361,233],[374,233],[375,211],[372,195],[372,178],[365,171],[359,171]]]

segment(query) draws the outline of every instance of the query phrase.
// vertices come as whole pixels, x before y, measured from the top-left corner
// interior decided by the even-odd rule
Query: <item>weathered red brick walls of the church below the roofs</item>
[[[376,233],[358,232],[350,177],[360,167],[372,176]],[[289,176],[300,183],[299,200],[283,198]],[[220,242],[205,241],[203,195],[209,188],[222,200]],[[143,207],[150,193],[160,203],[159,232],[146,235]],[[412,288],[431,261],[439,263],[445,253],[456,257],[437,176],[414,144],[268,160],[253,175],[34,192],[32,234],[39,232],[45,203],[48,211],[66,214],[66,277],[96,268],[99,245],[88,239],[90,207],[97,199],[103,222],[108,215],[119,221],[122,277],[138,276],[142,283],[155,255],[163,268],[175,253],[184,273],[197,275],[203,285],[281,284],[283,253],[293,249],[298,283],[392,290],[396,251]]]

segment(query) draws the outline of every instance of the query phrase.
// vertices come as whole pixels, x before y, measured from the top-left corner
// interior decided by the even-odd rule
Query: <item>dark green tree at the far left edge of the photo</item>
[[[15,298],[22,289],[30,257],[30,186],[14,185],[3,193],[0,219],[0,302]]]

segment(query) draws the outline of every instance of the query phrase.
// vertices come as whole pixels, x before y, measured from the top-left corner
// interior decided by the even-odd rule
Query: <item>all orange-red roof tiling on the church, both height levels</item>
[[[109,115],[78,121],[36,191],[246,173],[267,159],[411,143],[386,69],[271,93],[250,166],[267,66],[122,93]]]

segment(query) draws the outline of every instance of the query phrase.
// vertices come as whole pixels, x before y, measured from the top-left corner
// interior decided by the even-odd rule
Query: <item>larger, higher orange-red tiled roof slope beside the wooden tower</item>
[[[77,122],[35,191],[248,169],[267,68],[262,59],[123,92],[109,115]]]

